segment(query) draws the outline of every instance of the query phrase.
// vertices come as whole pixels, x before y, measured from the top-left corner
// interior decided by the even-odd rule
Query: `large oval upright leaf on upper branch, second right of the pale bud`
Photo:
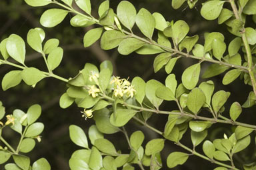
[[[140,9],[139,13],[136,16],[135,22],[141,32],[148,37],[149,39],[152,38],[153,32],[155,29],[155,18],[147,9]]]

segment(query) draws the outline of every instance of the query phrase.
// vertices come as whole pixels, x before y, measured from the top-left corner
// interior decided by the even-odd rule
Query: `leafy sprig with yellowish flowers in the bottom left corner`
[[[5,116],[5,107],[1,103],[0,120]],[[39,136],[44,125],[40,122],[35,122],[41,115],[40,105],[32,105],[27,110],[27,113],[19,109],[15,109],[12,115],[7,115],[7,121],[0,122],[0,141],[4,145],[0,146],[0,164],[6,163],[11,157],[13,157],[14,163],[7,163],[5,165],[6,170],[50,170],[51,166],[45,158],[38,159],[31,166],[29,157],[23,155],[24,153],[31,152],[35,147],[35,140],[41,141]],[[5,140],[5,129],[11,128],[13,131],[21,135],[17,149],[13,147]],[[18,138],[17,138],[18,139]]]

